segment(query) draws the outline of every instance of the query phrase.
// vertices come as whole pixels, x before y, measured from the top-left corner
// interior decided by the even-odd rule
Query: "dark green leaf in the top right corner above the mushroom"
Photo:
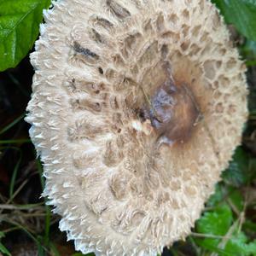
[[[232,23],[245,37],[256,41],[255,0],[212,0],[227,23]]]

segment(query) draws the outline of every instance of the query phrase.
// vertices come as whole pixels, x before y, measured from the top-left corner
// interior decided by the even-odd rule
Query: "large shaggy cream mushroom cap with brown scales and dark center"
[[[155,255],[190,233],[247,119],[245,67],[207,0],[60,0],[26,121],[44,195],[83,253]]]

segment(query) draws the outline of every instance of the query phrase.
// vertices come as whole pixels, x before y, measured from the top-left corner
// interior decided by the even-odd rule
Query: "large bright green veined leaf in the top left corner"
[[[38,38],[50,0],[0,0],[0,72],[15,67]]]

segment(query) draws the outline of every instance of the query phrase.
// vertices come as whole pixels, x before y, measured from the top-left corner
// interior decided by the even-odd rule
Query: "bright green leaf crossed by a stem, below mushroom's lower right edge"
[[[225,236],[230,225],[232,224],[232,211],[227,204],[216,207],[214,211],[205,212],[203,216],[196,222],[196,232],[206,234],[206,238],[195,239],[196,243],[201,247],[219,251],[219,238],[208,238],[207,235]]]

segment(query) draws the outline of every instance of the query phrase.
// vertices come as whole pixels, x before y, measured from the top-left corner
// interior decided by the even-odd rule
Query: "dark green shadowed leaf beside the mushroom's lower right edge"
[[[228,170],[226,170],[222,177],[225,183],[240,187],[246,184],[250,178],[248,170],[249,156],[242,148],[236,148],[236,152],[233,155],[233,160],[230,162]]]

